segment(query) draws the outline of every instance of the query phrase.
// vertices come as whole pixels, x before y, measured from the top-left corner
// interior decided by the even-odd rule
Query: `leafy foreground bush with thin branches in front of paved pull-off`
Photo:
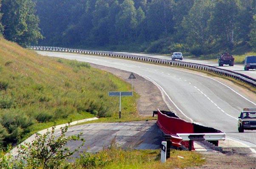
[[[82,133],[76,136],[65,136],[68,126],[61,128],[61,134],[57,138],[55,136],[55,127],[52,127],[51,132],[47,131],[45,134],[36,134],[32,143],[26,143],[25,146],[20,147],[21,157],[20,161],[26,165],[24,168],[33,169],[60,169],[63,168],[66,161],[71,158],[74,152],[77,152],[84,140],[80,138]],[[75,150],[69,150],[65,145],[69,141],[82,141]]]

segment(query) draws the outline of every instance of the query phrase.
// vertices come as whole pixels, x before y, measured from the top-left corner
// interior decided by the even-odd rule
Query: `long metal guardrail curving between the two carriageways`
[[[146,56],[138,56],[138,55],[130,55],[123,53],[114,53],[114,52],[106,52],[106,51],[97,51],[97,50],[80,50],[80,49],[69,49],[63,47],[43,47],[43,46],[28,46],[28,48],[33,50],[45,50],[45,51],[57,51],[57,52],[69,52],[69,53],[81,53],[81,54],[91,54],[91,55],[100,55],[100,56],[110,56],[117,58],[126,58],[137,61],[146,61],[150,63],[156,64],[164,64],[171,66],[181,66],[192,69],[198,69],[207,72],[213,72],[218,75],[227,76],[236,80],[240,80],[244,83],[249,84],[250,86],[256,87],[256,79],[251,78],[247,75],[243,75],[241,73],[233,72],[230,70],[220,69],[214,66],[208,66],[204,64],[195,64],[190,62],[183,61],[171,61],[167,59],[159,59],[159,58],[150,58]]]

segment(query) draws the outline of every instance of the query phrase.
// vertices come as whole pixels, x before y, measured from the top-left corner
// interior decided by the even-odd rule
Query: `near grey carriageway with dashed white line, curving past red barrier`
[[[73,53],[38,53],[137,73],[159,87],[165,94],[166,103],[174,108],[180,117],[222,130],[229,139],[239,141],[245,147],[253,147],[251,150],[256,153],[256,131],[237,131],[239,112],[242,108],[256,108],[256,100],[248,100],[213,78],[170,66],[125,59]]]

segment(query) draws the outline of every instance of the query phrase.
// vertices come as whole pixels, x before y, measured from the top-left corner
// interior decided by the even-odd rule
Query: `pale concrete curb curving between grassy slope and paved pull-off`
[[[89,118],[89,119],[77,120],[77,121],[71,122],[70,125],[77,125],[79,123],[88,122],[88,121],[97,120],[97,119],[99,119],[99,118],[93,117],[93,118]],[[62,124],[62,125],[57,125],[55,129],[56,130],[60,129],[61,127],[65,127],[66,125],[68,125],[68,123],[65,123],[65,124]],[[51,129],[52,129],[52,127],[49,127],[49,128],[44,129],[44,130],[41,130],[41,131],[39,131],[37,133],[44,134],[47,131],[51,131]],[[9,154],[13,155],[13,156],[17,156],[18,153],[19,153],[18,147],[20,145],[24,145],[25,143],[31,143],[35,139],[35,136],[36,136],[36,133],[34,133],[32,136],[28,137],[28,139],[26,139],[25,141],[23,141],[22,143],[20,143],[16,147],[14,147]]]

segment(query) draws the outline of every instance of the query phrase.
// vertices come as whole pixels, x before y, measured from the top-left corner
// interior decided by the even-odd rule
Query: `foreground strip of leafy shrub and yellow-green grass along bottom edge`
[[[109,147],[97,153],[83,152],[75,162],[72,156],[86,140],[82,133],[65,136],[68,126],[61,128],[60,136],[55,136],[55,127],[44,134],[36,134],[32,143],[19,148],[19,158],[0,153],[1,168],[40,168],[40,169],[176,169],[201,166],[205,158],[201,154],[188,151],[171,150],[166,163],[160,163],[160,150],[123,150],[115,138]],[[70,141],[77,142],[77,149],[66,147]],[[69,160],[69,163],[68,161]],[[74,161],[74,159],[73,159]]]

